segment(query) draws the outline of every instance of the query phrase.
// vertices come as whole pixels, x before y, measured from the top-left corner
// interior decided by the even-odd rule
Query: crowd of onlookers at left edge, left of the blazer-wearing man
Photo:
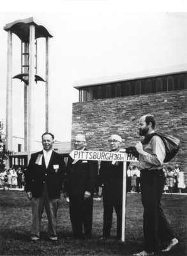
[[[0,172],[0,188],[4,190],[24,188],[24,172],[22,168],[10,168],[4,169],[3,172]]]

